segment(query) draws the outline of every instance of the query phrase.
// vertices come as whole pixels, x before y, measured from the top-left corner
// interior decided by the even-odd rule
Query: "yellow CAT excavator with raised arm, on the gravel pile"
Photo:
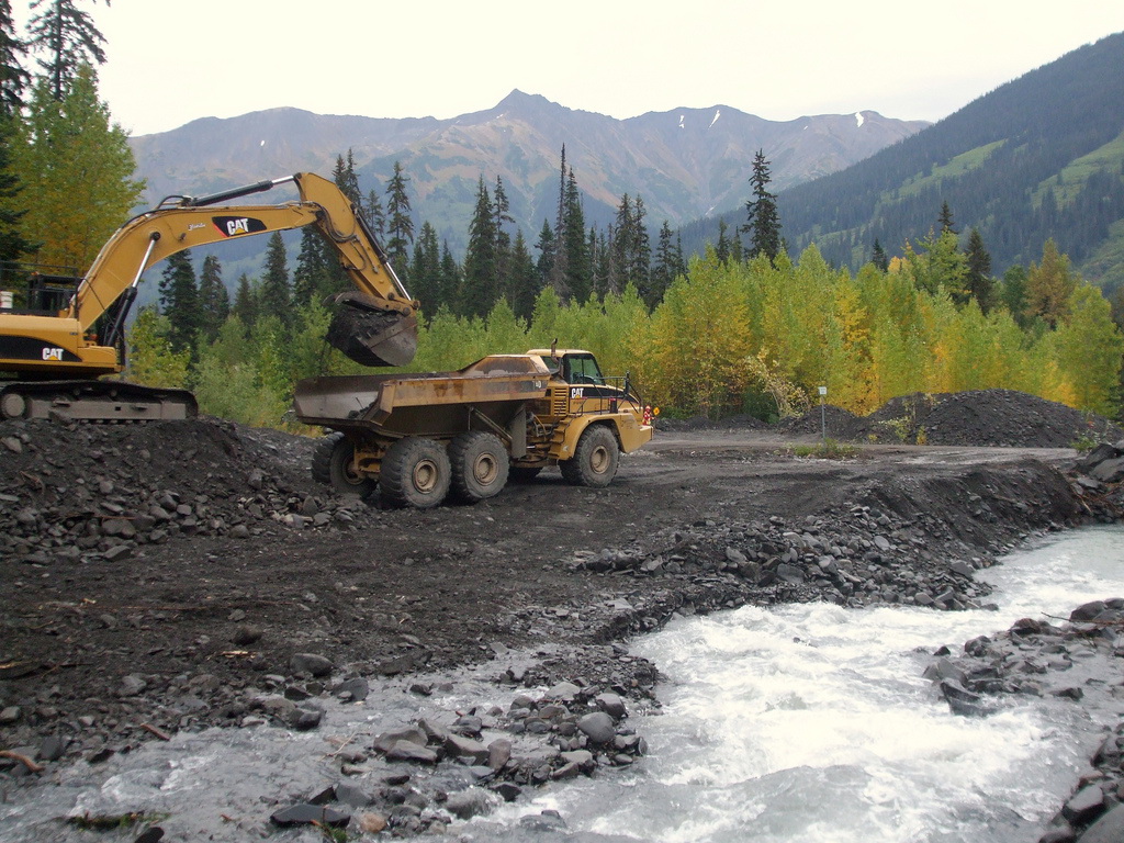
[[[230,205],[294,183],[299,200]],[[125,323],[145,270],[210,243],[315,225],[355,289],[333,297],[327,341],[364,365],[400,366],[417,348],[418,302],[352,201],[311,173],[205,197],[167,197],[121,226],[81,278],[24,274],[0,292],[0,418],[146,420],[198,413],[187,390],[102,380],[125,369]],[[0,287],[11,285],[0,281]]]

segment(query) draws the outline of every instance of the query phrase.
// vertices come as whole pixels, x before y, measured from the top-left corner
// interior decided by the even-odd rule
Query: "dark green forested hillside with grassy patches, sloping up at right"
[[[767,151],[768,152],[768,151]],[[903,254],[943,205],[1001,274],[1053,238],[1084,274],[1124,281],[1124,33],[979,98],[842,172],[780,192],[794,252],[858,268]]]

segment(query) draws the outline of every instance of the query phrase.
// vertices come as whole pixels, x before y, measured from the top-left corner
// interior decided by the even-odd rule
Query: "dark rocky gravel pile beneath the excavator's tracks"
[[[356,499],[309,478],[312,439],[214,418],[164,425],[0,422],[0,553],[115,561],[179,535],[347,528]]]

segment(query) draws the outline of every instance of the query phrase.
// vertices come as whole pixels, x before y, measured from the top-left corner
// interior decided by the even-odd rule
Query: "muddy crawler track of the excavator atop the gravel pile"
[[[0,384],[0,418],[169,422],[198,415],[196,398],[185,389],[97,380]]]

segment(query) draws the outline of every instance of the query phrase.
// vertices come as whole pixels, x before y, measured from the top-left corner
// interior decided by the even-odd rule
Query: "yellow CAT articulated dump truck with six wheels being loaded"
[[[314,478],[359,495],[378,484],[391,506],[475,502],[550,465],[575,486],[606,487],[619,455],[652,438],[627,375],[604,377],[580,350],[493,354],[456,372],[310,378],[293,408],[332,430]]]

